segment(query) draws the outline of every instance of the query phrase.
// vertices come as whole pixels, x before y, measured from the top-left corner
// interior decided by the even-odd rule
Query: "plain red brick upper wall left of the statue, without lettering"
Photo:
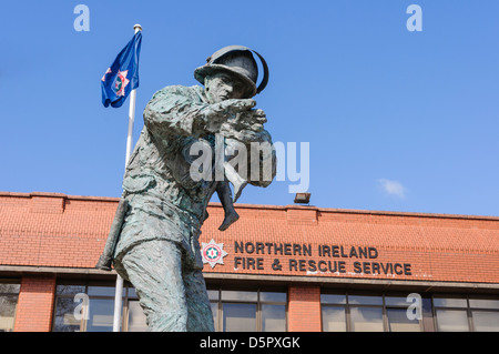
[[[118,199],[0,193],[0,264],[93,267]]]

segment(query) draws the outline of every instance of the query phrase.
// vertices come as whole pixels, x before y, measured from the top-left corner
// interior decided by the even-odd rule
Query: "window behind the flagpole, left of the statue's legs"
[[[114,284],[61,283],[55,290],[53,332],[112,332]],[[124,321],[123,321],[124,318]],[[134,289],[123,286],[121,331],[145,331],[145,316]]]

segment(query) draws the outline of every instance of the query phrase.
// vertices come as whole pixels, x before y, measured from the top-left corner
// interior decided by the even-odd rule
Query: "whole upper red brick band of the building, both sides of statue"
[[[0,192],[0,265],[93,267],[118,201]],[[205,266],[205,272],[499,283],[499,218],[236,206],[241,219],[225,232],[218,231],[223,209],[215,203],[208,206],[200,241],[223,243],[228,255],[224,264]],[[236,242],[251,243],[254,251],[237,253]],[[258,244],[264,249],[257,249]],[[267,244],[289,244],[292,252],[276,254]],[[312,254],[296,252],[295,245],[309,246]],[[346,253],[352,247],[373,247],[377,256],[325,255],[319,253],[324,245],[330,251],[343,246]],[[335,269],[335,264],[344,269]],[[400,271],[406,264],[409,272],[394,269]]]

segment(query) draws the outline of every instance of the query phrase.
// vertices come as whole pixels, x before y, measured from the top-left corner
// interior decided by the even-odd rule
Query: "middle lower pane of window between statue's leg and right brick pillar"
[[[255,332],[255,304],[223,304],[224,332]]]

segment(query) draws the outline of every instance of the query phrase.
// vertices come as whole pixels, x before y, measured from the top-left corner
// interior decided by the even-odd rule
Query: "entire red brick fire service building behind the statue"
[[[118,199],[0,193],[0,330],[111,331]],[[499,218],[237,205],[201,242],[217,331],[499,331]],[[213,240],[213,242],[212,242]],[[133,287],[122,331],[144,330]]]

